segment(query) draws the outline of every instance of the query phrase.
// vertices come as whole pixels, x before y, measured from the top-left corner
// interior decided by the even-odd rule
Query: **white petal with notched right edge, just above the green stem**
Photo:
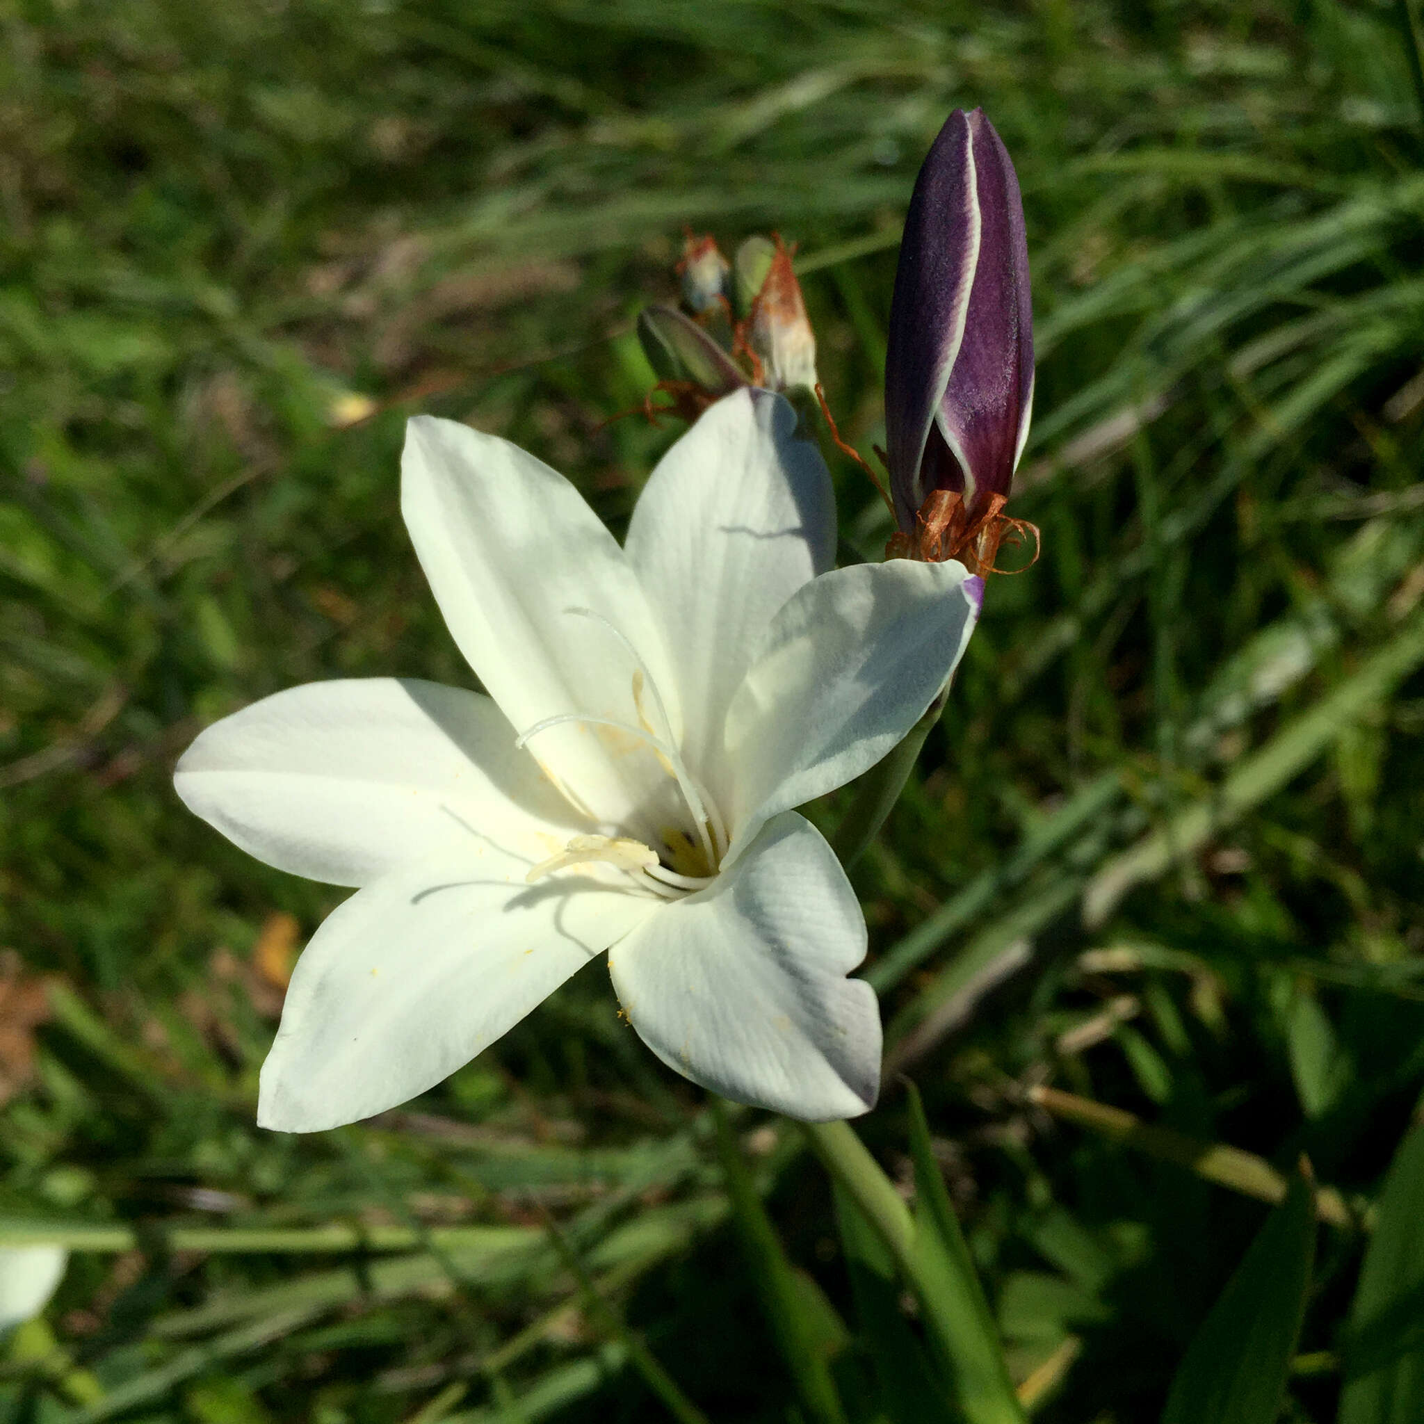
[[[739,1102],[823,1122],[874,1105],[880,1014],[856,894],[820,833],[779,816],[728,871],[609,956],[618,1000],[669,1067]]]

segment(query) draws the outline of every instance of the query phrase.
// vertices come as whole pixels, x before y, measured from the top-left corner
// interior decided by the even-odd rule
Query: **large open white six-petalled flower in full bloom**
[[[954,669],[958,564],[833,560],[830,480],[766,392],[713,406],[619,548],[504,440],[410,422],[402,510],[488,696],[414,679],[279,692],[211,726],[184,802],[282,870],[360,886],[298,963],[258,1121],[426,1091],[614,946],[669,1067],[800,1118],[873,1105],[866,927],[792,807],[860,775]],[[816,575],[820,577],[816,577]]]

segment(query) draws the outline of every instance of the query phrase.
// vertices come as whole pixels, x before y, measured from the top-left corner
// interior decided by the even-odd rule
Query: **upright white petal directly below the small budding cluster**
[[[834,562],[830,476],[796,412],[749,389],[712,406],[654,470],[627,548],[679,679],[688,765],[722,800],[732,693],[776,611]]]

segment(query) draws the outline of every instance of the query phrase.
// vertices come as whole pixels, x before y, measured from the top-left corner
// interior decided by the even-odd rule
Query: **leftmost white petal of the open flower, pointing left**
[[[488,698],[417,679],[263,698],[202,732],[174,785],[248,854],[343,886],[488,844],[534,864],[587,829]]]

